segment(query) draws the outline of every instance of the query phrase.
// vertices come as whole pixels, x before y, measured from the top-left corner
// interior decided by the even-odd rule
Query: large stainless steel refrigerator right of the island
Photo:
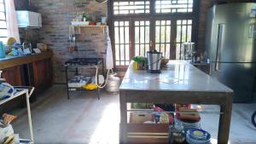
[[[234,90],[235,102],[253,100],[256,79],[256,3],[215,5],[208,11],[206,51],[211,76]]]

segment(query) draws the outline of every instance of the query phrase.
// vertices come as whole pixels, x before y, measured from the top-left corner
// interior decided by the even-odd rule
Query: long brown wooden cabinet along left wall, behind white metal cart
[[[38,55],[24,55],[21,57],[8,57],[0,60],[0,70],[3,71],[2,78],[13,86],[33,86],[35,91],[31,101],[36,101],[38,94],[49,88],[53,82],[52,53],[44,52]],[[20,107],[26,101],[15,99],[0,112],[7,112],[14,107]],[[24,105],[26,106],[26,105]]]

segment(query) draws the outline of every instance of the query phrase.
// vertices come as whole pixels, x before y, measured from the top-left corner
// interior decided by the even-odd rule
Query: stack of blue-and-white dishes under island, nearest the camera
[[[201,129],[190,129],[186,133],[186,141],[189,144],[211,144],[211,135]]]

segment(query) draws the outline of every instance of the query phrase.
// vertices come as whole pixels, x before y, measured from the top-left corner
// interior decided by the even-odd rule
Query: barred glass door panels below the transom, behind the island
[[[114,21],[114,36],[117,66],[127,66],[133,56],[147,56],[153,49],[179,60],[182,43],[192,40],[192,20]]]

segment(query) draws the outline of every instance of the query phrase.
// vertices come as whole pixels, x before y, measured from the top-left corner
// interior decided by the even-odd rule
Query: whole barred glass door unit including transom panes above
[[[171,9],[170,11],[174,1],[177,5],[179,3],[178,8],[181,8],[181,2],[187,2],[187,5],[183,5],[186,9],[181,10],[186,10],[184,16],[183,14],[166,14],[178,13],[180,10]],[[168,7],[168,3],[172,7]],[[154,49],[162,52],[165,58],[181,59],[182,43],[195,42],[195,37],[193,37],[195,18],[188,14],[193,11],[191,6],[188,6],[190,3],[193,3],[193,0],[112,2],[113,19],[110,25],[112,26],[115,67],[126,67],[132,57],[147,56],[147,51]]]

